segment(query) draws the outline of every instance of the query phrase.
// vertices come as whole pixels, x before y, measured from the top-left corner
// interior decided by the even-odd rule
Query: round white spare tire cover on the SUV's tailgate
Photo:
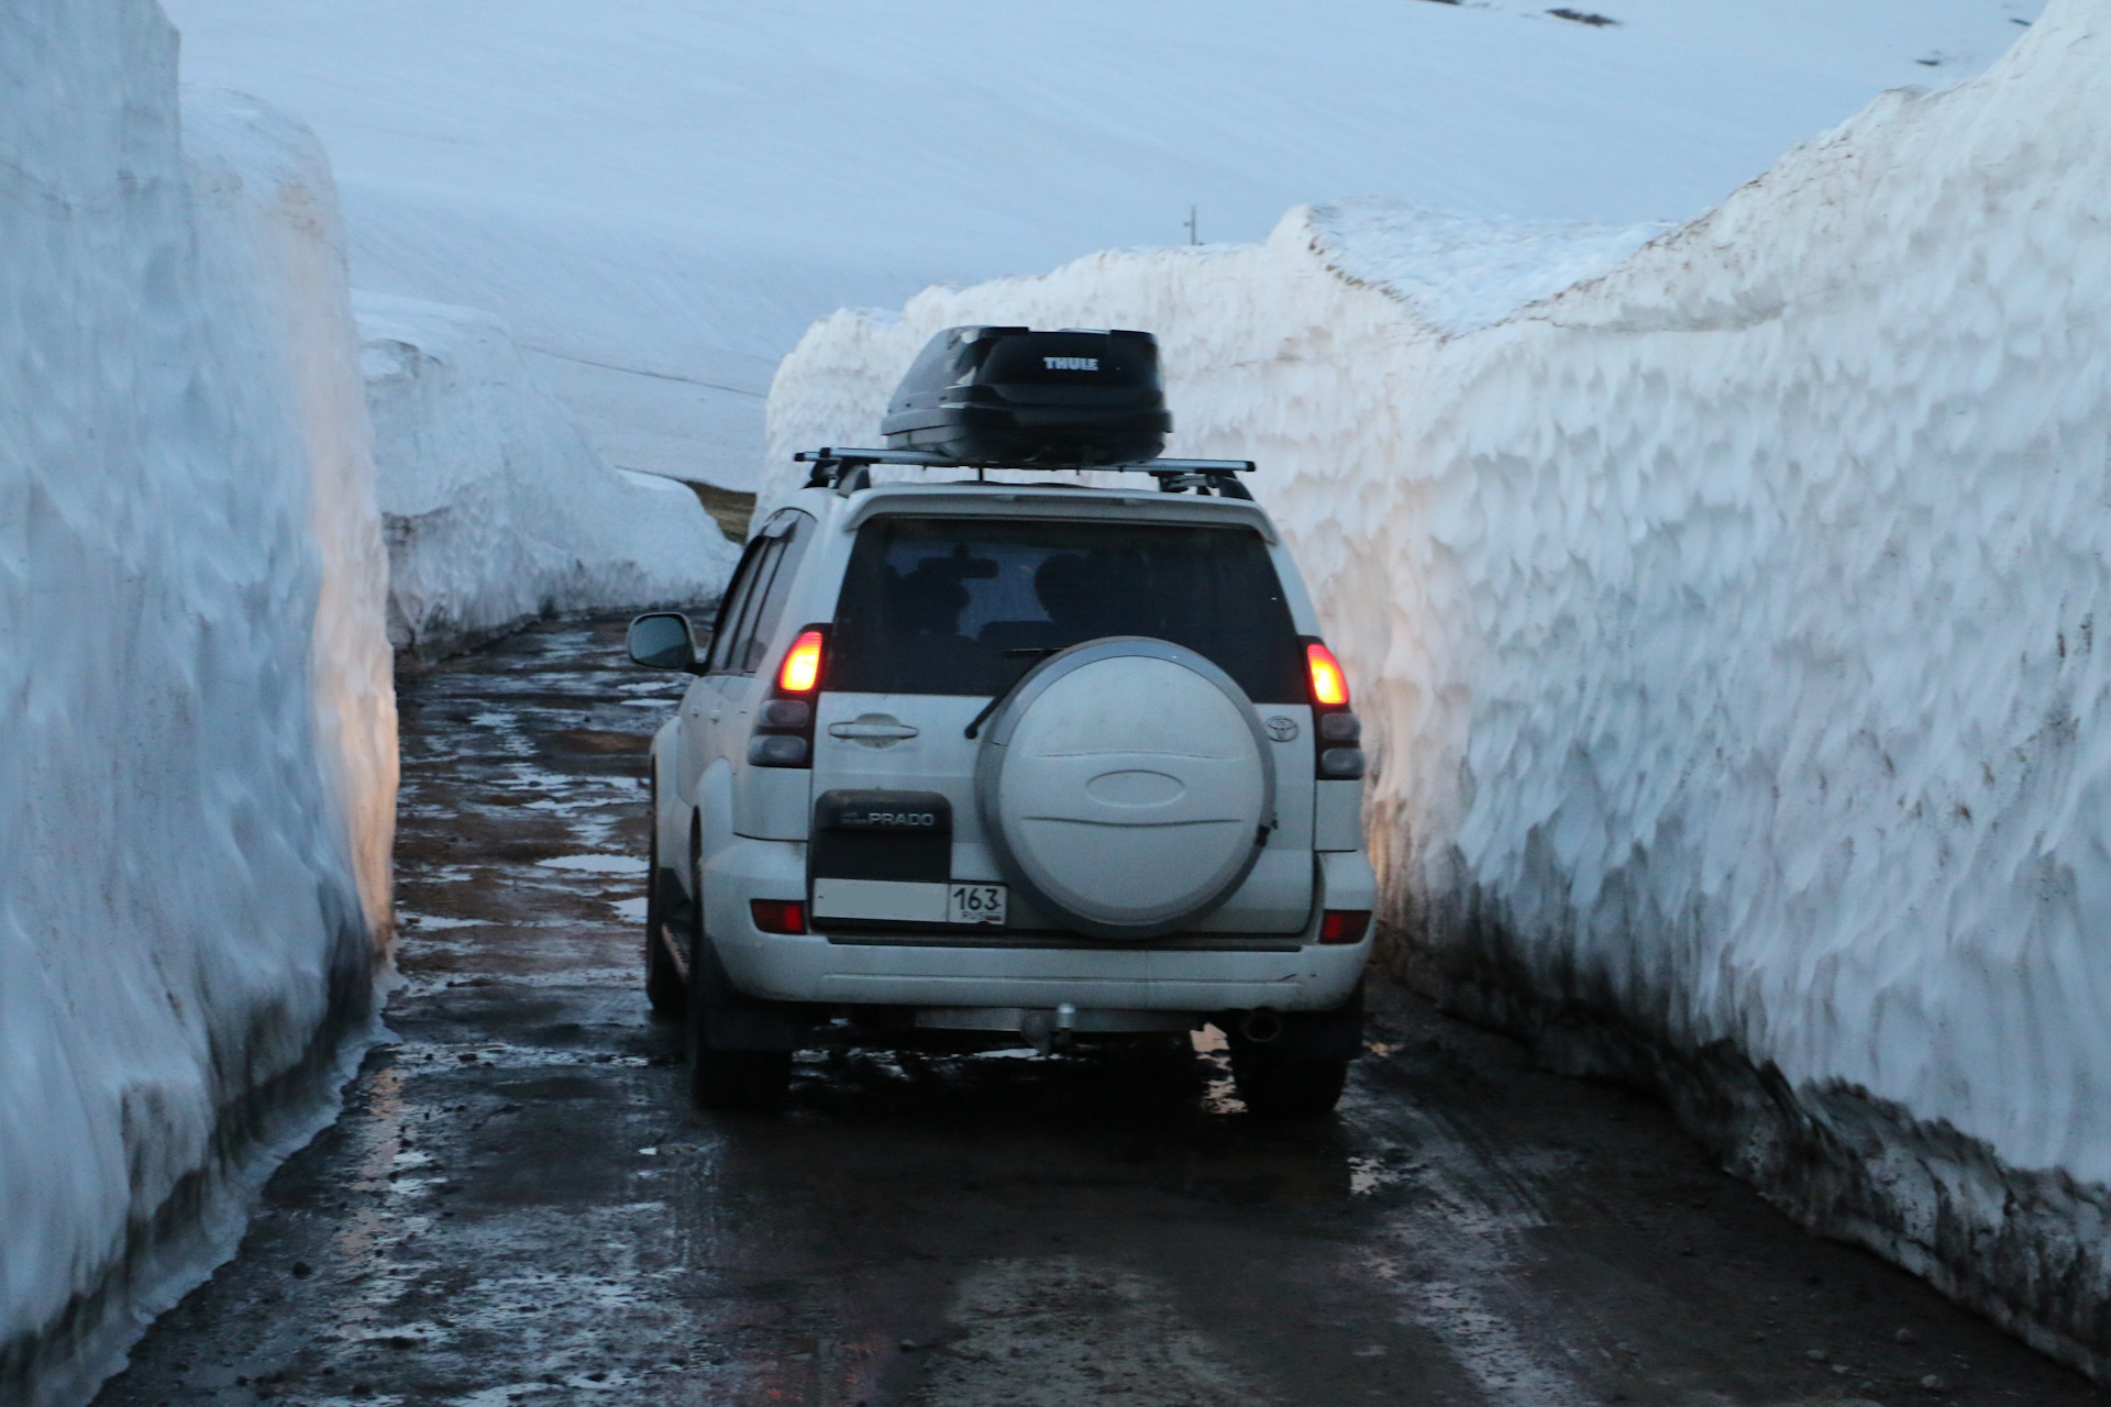
[[[975,804],[1005,878],[1051,918],[1150,939],[1224,903],[1275,827],[1275,762],[1231,675],[1110,635],[1049,656],[996,707]]]

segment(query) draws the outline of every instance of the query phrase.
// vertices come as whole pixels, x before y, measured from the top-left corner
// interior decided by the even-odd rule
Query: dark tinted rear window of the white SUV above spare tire
[[[1290,603],[1250,527],[996,517],[866,523],[828,641],[828,688],[1001,694],[1102,635],[1186,645],[1254,702],[1302,702]]]

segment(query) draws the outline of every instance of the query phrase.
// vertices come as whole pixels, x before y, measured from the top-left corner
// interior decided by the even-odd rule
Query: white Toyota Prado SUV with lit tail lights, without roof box
[[[1359,726],[1275,525],[1222,473],[882,483],[821,451],[652,740],[646,991],[705,1107],[823,1044],[1224,1032],[1256,1114],[1362,1048]],[[806,458],[806,456],[802,456]],[[1224,466],[1218,466],[1224,468]],[[1212,492],[1214,489],[1214,492]]]

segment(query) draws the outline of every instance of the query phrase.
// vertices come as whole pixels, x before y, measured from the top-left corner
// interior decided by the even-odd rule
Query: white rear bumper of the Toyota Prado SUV
[[[988,947],[914,941],[832,941],[828,934],[768,934],[754,926],[749,899],[798,899],[806,886],[804,846],[735,840],[705,869],[705,928],[733,985],[745,996],[828,1006],[1011,1006],[1079,1010],[1332,1010],[1355,989],[1370,960],[1362,943],[1317,943],[1319,911],[1370,909],[1374,875],[1355,852],[1319,856],[1321,903],[1305,941],[1275,951],[1106,945]],[[1229,934],[1210,934],[1229,937]],[[1081,941],[1089,943],[1089,941]]]

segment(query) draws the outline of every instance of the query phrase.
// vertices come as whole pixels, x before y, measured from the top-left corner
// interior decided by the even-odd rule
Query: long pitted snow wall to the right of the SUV
[[[939,327],[1157,331],[1359,690],[1393,960],[2111,1377],[2111,0],[1644,236],[1336,207],[840,312],[762,513]]]

